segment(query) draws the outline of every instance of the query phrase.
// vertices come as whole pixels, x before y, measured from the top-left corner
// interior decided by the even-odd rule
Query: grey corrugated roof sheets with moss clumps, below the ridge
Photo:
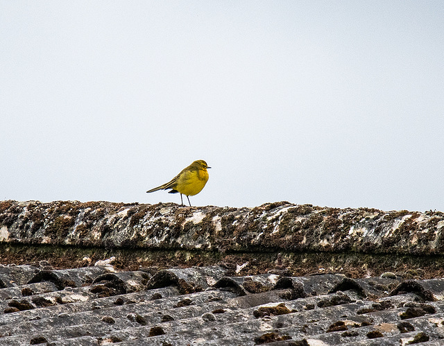
[[[0,345],[444,345],[444,280],[0,267]]]

